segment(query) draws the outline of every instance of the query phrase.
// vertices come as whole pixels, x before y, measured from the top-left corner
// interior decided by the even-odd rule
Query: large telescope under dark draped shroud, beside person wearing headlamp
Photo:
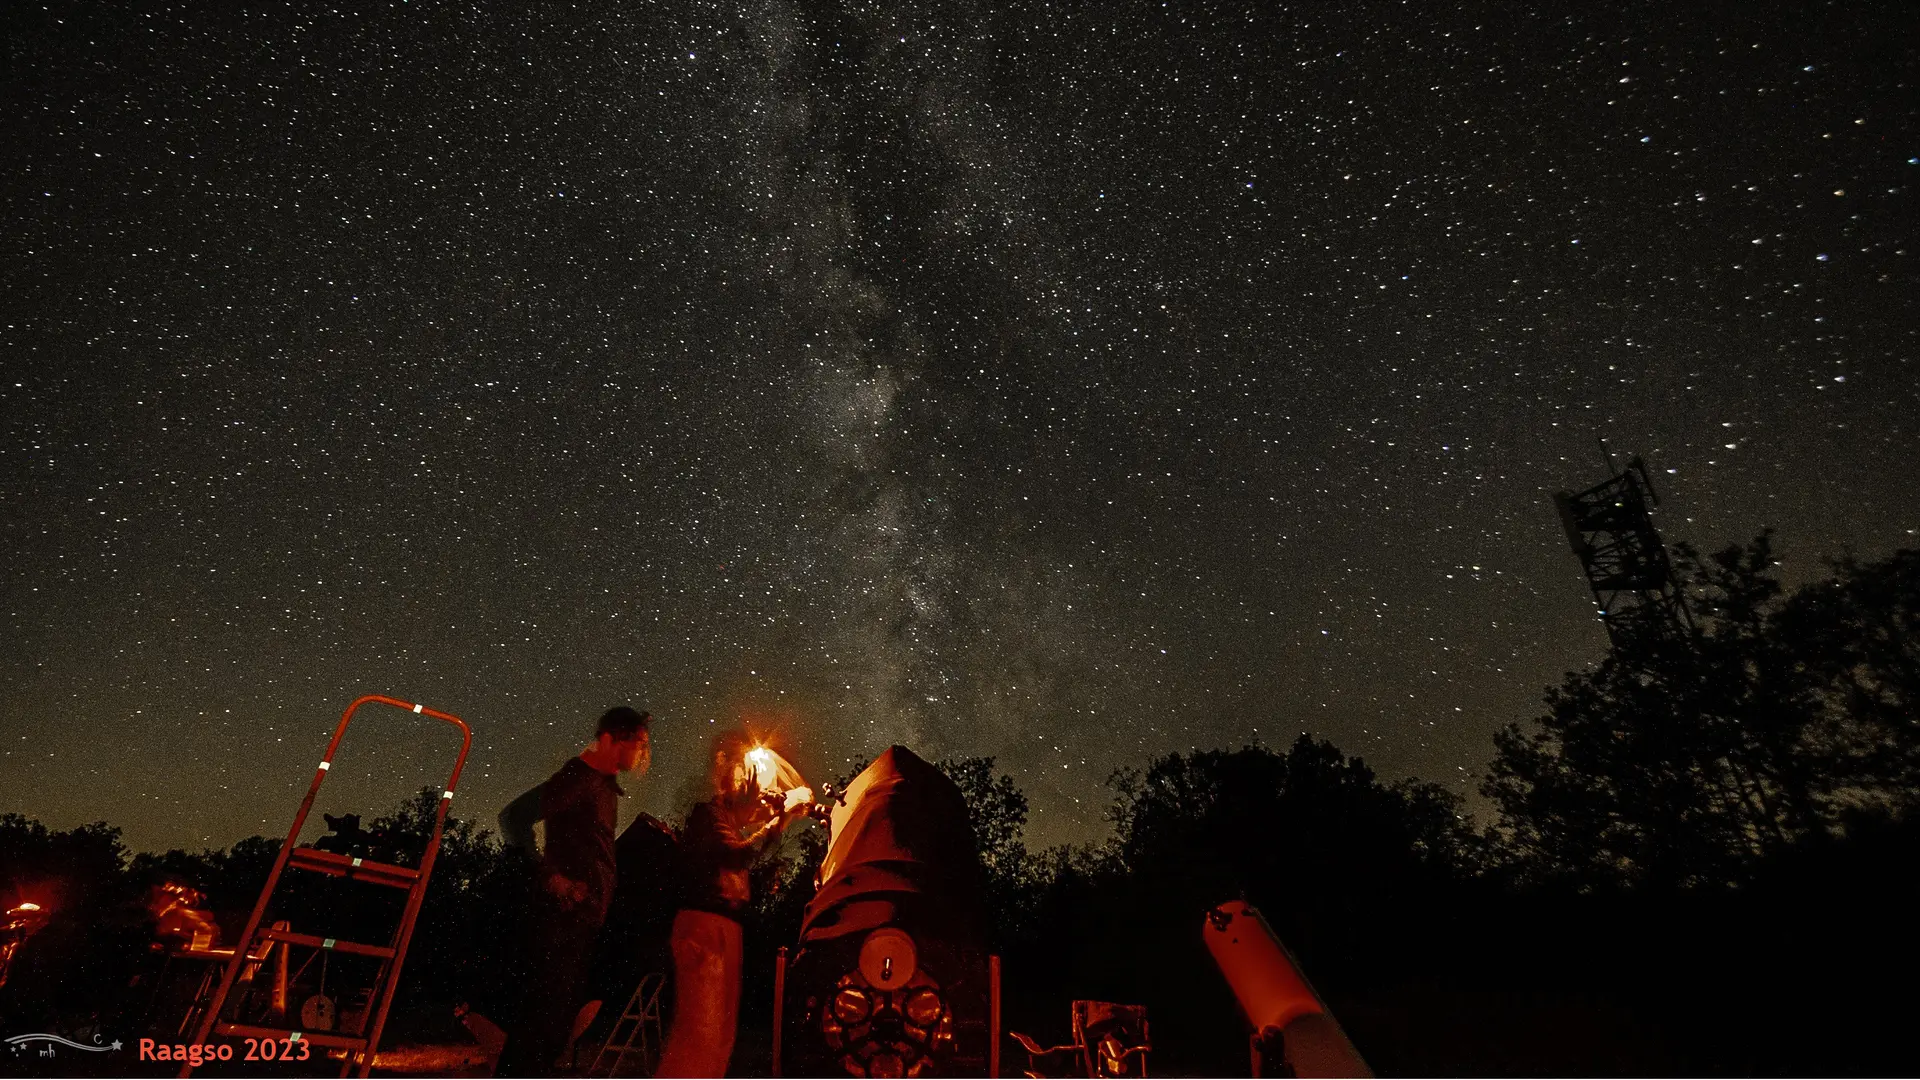
[[[895,746],[847,786],[787,967],[787,1076],[985,1076],[983,874],[968,805]]]

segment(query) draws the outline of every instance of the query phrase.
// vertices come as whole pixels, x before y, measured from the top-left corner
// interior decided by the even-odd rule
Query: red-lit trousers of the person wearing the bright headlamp
[[[674,917],[674,1022],[655,1076],[726,1076],[739,1026],[739,922],[710,911]]]

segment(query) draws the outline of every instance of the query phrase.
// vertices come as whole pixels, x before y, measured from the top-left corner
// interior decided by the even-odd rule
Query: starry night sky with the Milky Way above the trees
[[[616,701],[655,811],[741,717],[1039,842],[1469,792],[1596,436],[1789,580],[1920,530],[1912,12],[1559,8],[6,4],[0,811],[278,832],[361,692],[488,822]]]

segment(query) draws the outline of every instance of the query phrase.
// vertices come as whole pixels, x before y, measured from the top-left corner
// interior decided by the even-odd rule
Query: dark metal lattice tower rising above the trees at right
[[[1613,465],[1611,457],[1607,465]],[[1659,505],[1659,496],[1645,461],[1634,457],[1626,469],[1584,492],[1555,494],[1553,503],[1617,648],[1640,634],[1668,636],[1692,628],[1667,546],[1653,528],[1651,509]]]

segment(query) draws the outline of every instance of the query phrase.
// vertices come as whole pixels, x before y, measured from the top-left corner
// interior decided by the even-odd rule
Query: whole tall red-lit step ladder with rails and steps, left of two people
[[[447,786],[440,794],[440,809],[434,813],[434,832],[426,840],[426,851],[420,855],[419,869],[374,863],[372,859],[355,859],[351,855],[296,846],[300,842],[300,830],[307,824],[307,813],[313,809],[313,798],[321,794],[321,782],[326,780],[326,773],[334,767],[334,751],[340,749],[340,736],[348,734],[348,724],[353,721],[353,713],[357,713],[361,705],[369,703],[392,705],[396,709],[405,709],[420,717],[434,717],[436,721],[445,721],[461,728],[461,755],[453,761],[453,774],[447,776]],[[324,1049],[346,1049],[346,1063],[340,1067],[342,1076],[351,1072],[355,1065],[359,1067],[361,1076],[367,1076],[372,1070],[374,1051],[380,1047],[380,1032],[386,1028],[386,1013],[394,1005],[394,990],[399,986],[399,967],[407,961],[407,944],[413,940],[413,924],[420,917],[420,901],[426,899],[426,882],[434,874],[434,859],[440,855],[440,830],[447,821],[447,803],[453,801],[453,788],[461,780],[461,769],[467,765],[467,749],[472,746],[472,740],[474,734],[467,726],[467,721],[438,709],[428,709],[426,705],[415,705],[411,701],[399,701],[380,694],[369,694],[348,705],[348,711],[340,717],[340,726],[334,728],[334,740],[326,744],[326,757],[321,759],[321,767],[313,773],[313,784],[307,786],[307,798],[301,799],[300,813],[294,815],[294,828],[288,830],[286,842],[280,844],[280,855],[273,861],[273,872],[267,874],[267,884],[261,886],[259,899],[253,901],[253,915],[246,920],[246,930],[240,934],[240,942],[234,947],[234,959],[227,963],[227,970],[221,974],[221,988],[213,994],[213,1001],[200,1019],[200,1030],[194,1032],[196,1043],[205,1043],[215,1034],[276,1042],[303,1040]],[[317,934],[296,934],[276,926],[261,928],[267,915],[267,901],[273,899],[273,890],[280,884],[280,874],[288,867],[342,876],[353,882],[407,890],[407,907],[399,915],[399,926],[394,930],[394,938],[384,945],[369,945],[361,942],[323,938]],[[223,1022],[221,1009],[227,1007],[227,995],[232,992],[234,980],[240,976],[240,967],[257,944],[269,942],[280,942],[282,947],[296,945],[378,957],[380,970],[372,982],[372,1001],[365,1028],[367,1034],[348,1036],[336,1032],[301,1032],[290,1028]],[[182,1078],[192,1076],[192,1065],[180,1068]]]

